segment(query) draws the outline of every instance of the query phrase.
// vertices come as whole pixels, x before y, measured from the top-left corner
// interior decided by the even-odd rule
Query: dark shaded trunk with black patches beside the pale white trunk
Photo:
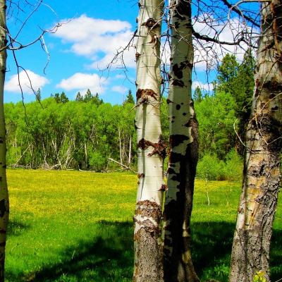
[[[170,157],[164,207],[164,281],[200,281],[191,258],[190,216],[198,159],[198,123],[191,99],[191,6],[171,1],[171,71],[168,94]]]

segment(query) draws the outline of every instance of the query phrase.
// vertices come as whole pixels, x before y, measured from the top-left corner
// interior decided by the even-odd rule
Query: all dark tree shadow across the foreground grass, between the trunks
[[[28,274],[8,273],[9,281],[103,282],[132,281],[133,223],[102,221],[102,235],[62,250],[53,264]],[[228,281],[235,224],[192,223],[192,258],[202,280]],[[271,245],[271,281],[282,278],[282,231],[274,230]]]

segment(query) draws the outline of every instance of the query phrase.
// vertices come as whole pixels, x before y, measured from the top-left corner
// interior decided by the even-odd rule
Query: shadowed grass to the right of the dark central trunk
[[[197,275],[206,280],[228,281],[235,223],[192,223],[192,259]],[[271,238],[271,281],[282,278],[282,231]]]

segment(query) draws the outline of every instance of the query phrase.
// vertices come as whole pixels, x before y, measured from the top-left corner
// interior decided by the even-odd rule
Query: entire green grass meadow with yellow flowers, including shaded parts
[[[131,281],[137,177],[130,173],[8,170],[6,281]],[[196,180],[192,251],[202,280],[228,279],[240,183]],[[282,278],[282,204],[271,281]],[[149,281],[148,281],[149,282]]]

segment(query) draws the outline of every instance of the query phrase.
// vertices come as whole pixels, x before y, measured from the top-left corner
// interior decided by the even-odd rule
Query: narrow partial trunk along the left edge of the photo
[[[6,47],[6,1],[0,1],[0,49]],[[4,118],[4,81],[6,49],[0,51],[0,282],[4,282],[6,231],[8,227],[8,188],[6,180],[6,130]]]

